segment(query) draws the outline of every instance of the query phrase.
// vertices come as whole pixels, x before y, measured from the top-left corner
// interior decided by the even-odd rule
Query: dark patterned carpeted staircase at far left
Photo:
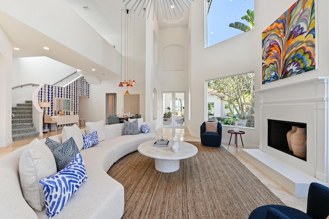
[[[32,121],[32,101],[17,103],[17,106],[12,107],[11,111],[13,114],[11,120],[13,141],[39,136]]]

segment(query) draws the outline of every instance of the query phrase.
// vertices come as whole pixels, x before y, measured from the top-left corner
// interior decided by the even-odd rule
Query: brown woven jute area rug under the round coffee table
[[[189,143],[198,153],[180,160],[176,172],[157,171],[137,151],[108,170],[124,187],[122,218],[248,218],[258,206],[284,205],[223,147]]]

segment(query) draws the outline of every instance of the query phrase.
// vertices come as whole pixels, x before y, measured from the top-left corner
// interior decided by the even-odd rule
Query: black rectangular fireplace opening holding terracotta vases
[[[280,121],[280,120],[272,120],[272,119],[268,119],[267,122],[268,122],[267,145],[271,148],[275,148],[279,151],[282,151],[284,153],[290,154],[291,156],[295,156],[297,158],[306,161],[306,123]],[[295,126],[296,128],[293,128],[293,126]],[[292,147],[290,143],[290,149],[293,150],[291,151],[288,145],[289,137],[287,138],[287,133],[292,129],[293,131],[291,132],[294,133],[294,131],[297,130],[297,127],[298,127],[297,133],[303,132],[305,134],[304,148],[302,149],[296,148],[296,142],[297,141],[300,142],[300,139],[297,140],[296,139],[297,136],[295,135],[293,139],[295,151],[291,149]]]

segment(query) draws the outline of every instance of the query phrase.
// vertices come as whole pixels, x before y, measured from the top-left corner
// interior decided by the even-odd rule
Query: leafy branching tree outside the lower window
[[[254,74],[220,78],[208,82],[208,88],[215,90],[211,95],[228,102],[231,115],[248,119],[248,126],[254,124]]]

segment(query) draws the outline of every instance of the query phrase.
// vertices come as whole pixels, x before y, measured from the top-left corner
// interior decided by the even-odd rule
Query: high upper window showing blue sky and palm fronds
[[[253,29],[253,0],[206,0],[206,47]]]

